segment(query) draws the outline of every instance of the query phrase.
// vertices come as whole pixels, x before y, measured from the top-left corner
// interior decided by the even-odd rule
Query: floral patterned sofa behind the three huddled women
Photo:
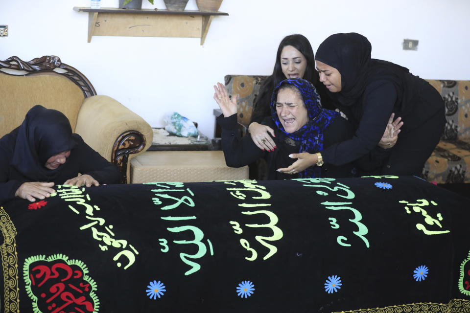
[[[253,102],[267,76],[226,75],[229,93],[238,94],[238,123],[250,123]],[[426,161],[422,177],[437,183],[470,182],[470,81],[427,80],[446,105],[446,129]]]

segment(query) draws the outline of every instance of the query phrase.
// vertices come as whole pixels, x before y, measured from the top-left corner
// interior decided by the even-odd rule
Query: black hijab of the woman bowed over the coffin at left
[[[11,165],[31,181],[53,181],[63,167],[50,170],[44,166],[47,159],[75,146],[69,119],[40,105],[31,108],[12,133],[16,141]]]

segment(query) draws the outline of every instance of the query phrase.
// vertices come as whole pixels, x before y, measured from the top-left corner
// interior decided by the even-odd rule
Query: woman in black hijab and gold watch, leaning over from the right
[[[383,151],[385,161],[369,171],[420,175],[444,131],[444,102],[436,89],[407,68],[371,59],[371,49],[367,38],[356,33],[331,35],[318,47],[320,81],[333,105],[355,128],[352,139],[325,149],[321,155],[335,165],[366,155],[379,142],[390,114],[395,113],[403,121],[400,138]]]

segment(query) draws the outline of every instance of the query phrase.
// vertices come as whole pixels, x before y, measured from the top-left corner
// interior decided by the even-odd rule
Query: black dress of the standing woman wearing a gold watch
[[[362,162],[366,169],[363,175],[419,176],[424,162],[439,143],[446,119],[444,103],[438,91],[421,78],[416,79],[422,81],[419,97],[410,112],[404,115],[397,106],[396,89],[392,83],[386,81],[372,83],[355,105],[338,104],[338,108],[352,123],[355,134],[351,139],[325,149],[322,152],[324,160],[340,165],[361,158],[371,150],[383,151],[383,162]],[[403,116],[404,124],[397,144],[384,151],[376,145],[392,112],[395,112],[395,116]]]

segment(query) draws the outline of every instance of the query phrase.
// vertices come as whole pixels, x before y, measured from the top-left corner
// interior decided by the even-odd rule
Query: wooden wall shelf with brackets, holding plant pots
[[[224,12],[118,9],[75,6],[88,12],[88,42],[93,36],[189,37],[206,40],[212,18]]]

